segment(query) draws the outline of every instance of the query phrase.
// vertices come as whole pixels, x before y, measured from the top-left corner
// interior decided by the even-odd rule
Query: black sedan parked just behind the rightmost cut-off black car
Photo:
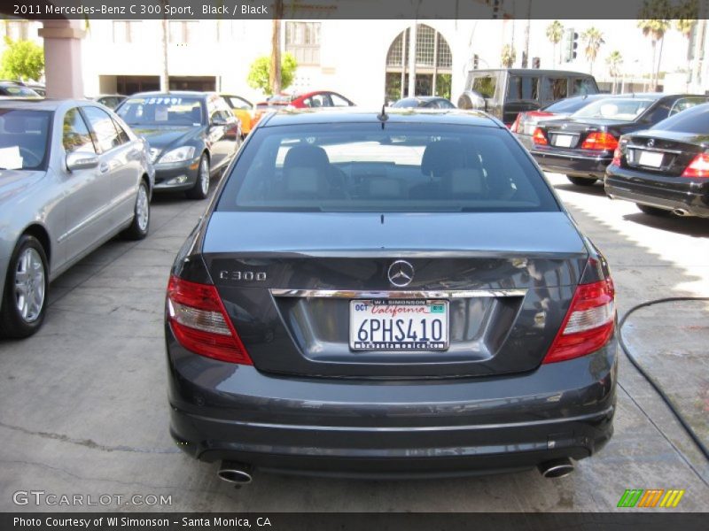
[[[620,135],[652,127],[708,99],[657,93],[600,99],[566,119],[542,121],[534,129],[532,155],[544,170],[565,173],[573,184],[590,186],[604,178]]]

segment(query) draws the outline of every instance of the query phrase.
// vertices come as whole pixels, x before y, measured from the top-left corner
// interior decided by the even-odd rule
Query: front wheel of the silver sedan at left
[[[42,243],[23,235],[12,251],[0,309],[0,333],[5,337],[35,334],[44,320],[48,288],[47,255]]]

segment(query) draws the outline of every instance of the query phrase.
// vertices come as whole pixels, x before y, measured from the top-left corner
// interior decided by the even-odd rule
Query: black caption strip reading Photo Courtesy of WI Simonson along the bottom
[[[666,510],[663,510],[666,511]],[[264,531],[606,531],[706,528],[706,514],[672,512],[618,513],[3,513],[3,531],[202,531],[262,529]]]

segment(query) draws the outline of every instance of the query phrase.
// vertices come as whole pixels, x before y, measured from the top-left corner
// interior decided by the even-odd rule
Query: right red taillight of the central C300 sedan
[[[580,284],[564,322],[542,363],[591,354],[611,339],[615,327],[615,289],[610,278]]]

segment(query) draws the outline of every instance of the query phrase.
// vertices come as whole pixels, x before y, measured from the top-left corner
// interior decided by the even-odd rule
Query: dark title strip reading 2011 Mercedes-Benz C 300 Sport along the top
[[[652,9],[660,6],[662,12]],[[705,19],[708,0],[4,0],[21,19]]]

